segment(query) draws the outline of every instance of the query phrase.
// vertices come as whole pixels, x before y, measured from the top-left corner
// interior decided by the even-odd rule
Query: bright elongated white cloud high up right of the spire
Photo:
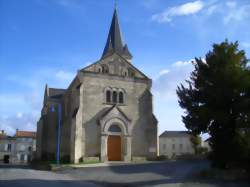
[[[170,7],[162,13],[153,15],[152,20],[159,23],[171,22],[173,17],[193,15],[200,12],[203,8],[204,4],[202,1],[193,1],[179,6]]]

